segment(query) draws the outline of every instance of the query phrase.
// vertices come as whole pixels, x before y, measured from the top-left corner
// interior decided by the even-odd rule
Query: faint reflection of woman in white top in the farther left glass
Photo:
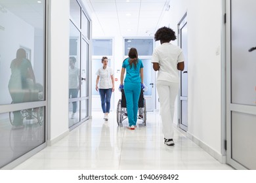
[[[76,98],[79,91],[80,71],[77,67],[75,67],[75,61],[76,59],[74,57],[70,57],[68,84],[70,89],[69,97],[71,96],[71,98]],[[77,102],[76,101],[72,102],[72,104],[73,104],[73,113],[71,118],[73,119],[77,109]]]

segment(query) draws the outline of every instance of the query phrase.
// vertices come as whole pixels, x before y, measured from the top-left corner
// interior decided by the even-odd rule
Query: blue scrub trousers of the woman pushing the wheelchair
[[[125,82],[125,99],[129,126],[136,125],[138,114],[138,103],[140,97],[140,82]]]

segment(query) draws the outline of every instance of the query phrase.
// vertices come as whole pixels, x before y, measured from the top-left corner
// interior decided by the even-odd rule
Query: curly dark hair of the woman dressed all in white
[[[176,39],[175,31],[169,27],[161,27],[155,33],[155,41],[175,41]]]

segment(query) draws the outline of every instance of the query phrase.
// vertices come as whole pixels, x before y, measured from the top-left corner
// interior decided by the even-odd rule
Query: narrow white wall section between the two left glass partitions
[[[70,1],[50,3],[49,35],[49,142],[68,133],[68,58]],[[61,5],[61,8],[60,8]],[[66,112],[65,112],[66,111]]]

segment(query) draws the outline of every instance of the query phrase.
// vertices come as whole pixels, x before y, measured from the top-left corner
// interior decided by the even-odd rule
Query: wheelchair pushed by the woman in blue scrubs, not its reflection
[[[142,120],[142,124],[146,125],[146,99],[144,99],[143,90],[140,91],[139,97],[139,105],[138,105],[138,116],[139,120]],[[116,108],[116,120],[117,124],[121,125],[123,120],[128,118],[127,110],[126,110],[126,99],[125,99],[125,92],[121,90],[121,99],[119,99]]]

